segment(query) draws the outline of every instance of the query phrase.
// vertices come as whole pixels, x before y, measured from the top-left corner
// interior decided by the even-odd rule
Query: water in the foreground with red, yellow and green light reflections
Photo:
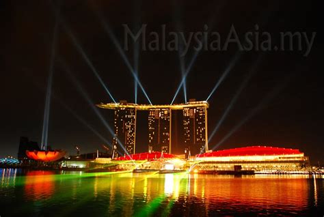
[[[0,216],[323,216],[321,176],[18,169],[0,169],[0,174]]]

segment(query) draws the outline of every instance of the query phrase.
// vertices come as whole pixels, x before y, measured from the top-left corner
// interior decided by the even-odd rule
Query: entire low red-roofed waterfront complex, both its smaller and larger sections
[[[282,147],[251,146],[234,149],[210,151],[192,156],[189,160],[183,155],[163,154],[162,152],[146,152],[131,156],[123,156],[114,160],[143,161],[147,160],[140,169],[163,170],[174,168],[176,170],[189,170],[194,173],[221,173],[224,172],[307,172],[309,158],[299,149]],[[131,165],[131,164],[129,164]],[[126,166],[125,166],[126,167]],[[231,173],[234,174],[234,173]]]

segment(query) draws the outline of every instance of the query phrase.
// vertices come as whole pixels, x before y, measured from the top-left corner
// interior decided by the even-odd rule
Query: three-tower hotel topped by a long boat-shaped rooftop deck
[[[148,111],[148,151],[161,151],[172,154],[171,132],[172,111],[183,111],[183,130],[185,154],[199,154],[208,150],[207,109],[208,102],[189,100],[184,104],[133,104],[119,103],[97,104],[102,109],[115,111],[115,136],[113,147],[118,152],[135,154],[137,111]],[[119,143],[119,145],[118,145]],[[124,146],[124,149],[120,147]]]

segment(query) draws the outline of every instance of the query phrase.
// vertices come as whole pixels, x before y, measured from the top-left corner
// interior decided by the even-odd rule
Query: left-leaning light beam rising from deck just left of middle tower
[[[139,88],[141,88],[141,91],[144,93],[144,95],[148,99],[148,102],[150,102],[150,104],[152,104],[152,102],[151,102],[150,98],[148,97],[148,94],[146,93],[143,85],[141,85],[141,82],[139,81],[139,78],[138,78],[135,70],[131,66],[131,63],[129,63],[129,59],[126,57],[126,54],[124,53],[124,50],[122,50],[122,46],[120,46],[120,43],[118,42],[116,36],[113,34],[113,31],[111,31],[111,27],[109,27],[107,22],[105,22],[105,18],[103,17],[103,15],[100,12],[98,12],[97,15],[98,15],[98,18],[100,20],[100,23],[103,25],[103,27],[104,27],[104,29],[105,29],[105,31],[107,33],[107,35],[109,36],[109,38],[111,39],[113,44],[116,46],[116,48],[118,50],[118,53],[120,53],[120,57],[122,57],[122,59],[124,60],[124,63],[127,66],[127,68],[129,68],[129,71],[131,72],[131,74],[133,75],[135,81],[139,85]]]

